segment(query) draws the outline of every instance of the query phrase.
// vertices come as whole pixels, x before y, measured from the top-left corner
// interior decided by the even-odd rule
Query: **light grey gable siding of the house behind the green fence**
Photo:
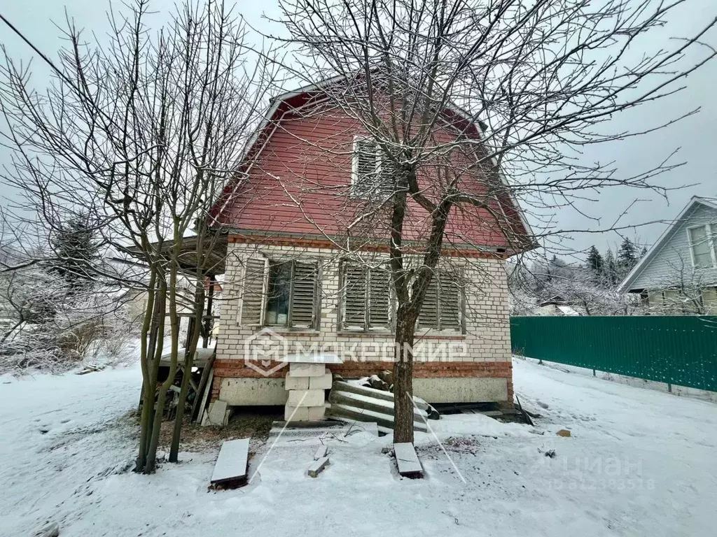
[[[668,232],[667,240],[652,258],[647,260],[639,274],[635,275],[629,289],[665,289],[671,286],[717,285],[717,269],[693,267],[690,255],[688,228],[706,223],[713,224],[712,233],[717,231],[717,209],[695,203],[679,222]]]

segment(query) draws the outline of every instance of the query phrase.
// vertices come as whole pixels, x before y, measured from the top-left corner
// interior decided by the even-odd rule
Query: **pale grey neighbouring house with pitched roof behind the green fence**
[[[652,314],[717,314],[717,203],[693,197],[618,291]]]

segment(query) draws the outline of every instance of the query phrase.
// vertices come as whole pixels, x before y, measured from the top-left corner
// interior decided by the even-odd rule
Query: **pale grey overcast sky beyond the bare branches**
[[[117,6],[119,2],[115,1]],[[227,1],[231,4],[231,1]],[[70,17],[75,19],[77,26],[85,28],[87,32],[95,31],[100,36],[108,27],[105,11],[109,5],[108,0],[12,0],[5,1],[0,6],[0,13],[6,16],[15,26],[24,32],[27,37],[50,57],[62,46],[62,34],[57,25],[65,25],[65,9]],[[168,11],[174,6],[173,0],[155,0],[151,7],[156,14],[152,16],[153,26],[161,26],[168,19]],[[262,15],[269,14],[277,17],[278,10],[275,0],[237,2],[236,9],[241,12],[247,21],[266,32],[269,23]],[[717,15],[717,0],[690,0],[685,9],[682,9],[668,21],[670,35],[685,35],[696,32],[706,24],[708,19]],[[663,32],[663,35],[665,35]],[[655,47],[662,43],[655,40]],[[16,58],[29,59],[31,51],[10,30],[0,24],[0,42],[8,52]],[[717,32],[713,29],[706,42],[717,47]],[[697,57],[697,56],[695,56]],[[36,64],[37,73],[41,72],[40,64]],[[40,86],[42,77],[34,77],[34,84]],[[609,188],[604,191],[597,201],[586,202],[582,211],[591,216],[599,216],[599,224],[586,221],[576,211],[561,210],[556,213],[556,223],[564,229],[609,228],[612,222],[627,208],[632,200],[639,195],[643,200],[635,205],[627,218],[621,223],[642,224],[649,221],[668,221],[674,218],[683,205],[693,195],[707,197],[717,196],[717,60],[707,64],[698,72],[690,74],[685,80],[687,88],[675,97],[669,97],[657,105],[642,107],[639,111],[615,117],[614,132],[638,125],[650,127],[673,119],[683,112],[694,107],[701,107],[701,111],[688,117],[678,124],[665,130],[645,135],[639,138],[625,140],[609,145],[592,147],[589,158],[601,162],[615,162],[618,174],[631,173],[654,167],[659,160],[665,158],[672,150],[680,147],[674,162],[685,162],[685,165],[668,175],[661,177],[658,182],[665,186],[695,185],[683,190],[673,191],[668,200],[660,198],[655,193],[635,193],[620,188]],[[7,161],[6,150],[0,147],[0,163]],[[0,185],[0,189],[4,188]],[[6,194],[6,192],[3,192]],[[644,226],[637,231],[624,232],[631,238],[639,238],[640,243],[650,245],[665,229],[665,223],[655,223]],[[603,250],[607,246],[615,248],[620,238],[616,233],[574,234],[569,238],[566,246],[576,250],[587,248],[595,243]]]

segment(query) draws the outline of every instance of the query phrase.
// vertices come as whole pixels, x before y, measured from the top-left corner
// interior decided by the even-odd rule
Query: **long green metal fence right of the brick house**
[[[717,316],[511,317],[513,352],[717,391]]]

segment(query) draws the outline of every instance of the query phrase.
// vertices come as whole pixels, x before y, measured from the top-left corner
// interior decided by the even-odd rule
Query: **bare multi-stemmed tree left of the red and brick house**
[[[47,226],[89,213],[116,256],[146,266],[141,327],[143,412],[136,471],[152,473],[165,394],[184,360],[170,459],[176,460],[194,351],[203,326],[204,279],[217,274],[221,230],[207,215],[252,132],[266,84],[267,55],[247,46],[247,29],[221,2],[187,1],[157,32],[148,0],[111,11],[106,43],[87,44],[68,22],[47,91],[6,55],[0,112],[14,161],[4,180]],[[47,59],[47,57],[44,57]],[[191,241],[187,239],[191,236]],[[194,331],[181,356],[183,274],[196,281]],[[169,374],[158,384],[164,334]],[[157,405],[155,408],[155,400]]]

